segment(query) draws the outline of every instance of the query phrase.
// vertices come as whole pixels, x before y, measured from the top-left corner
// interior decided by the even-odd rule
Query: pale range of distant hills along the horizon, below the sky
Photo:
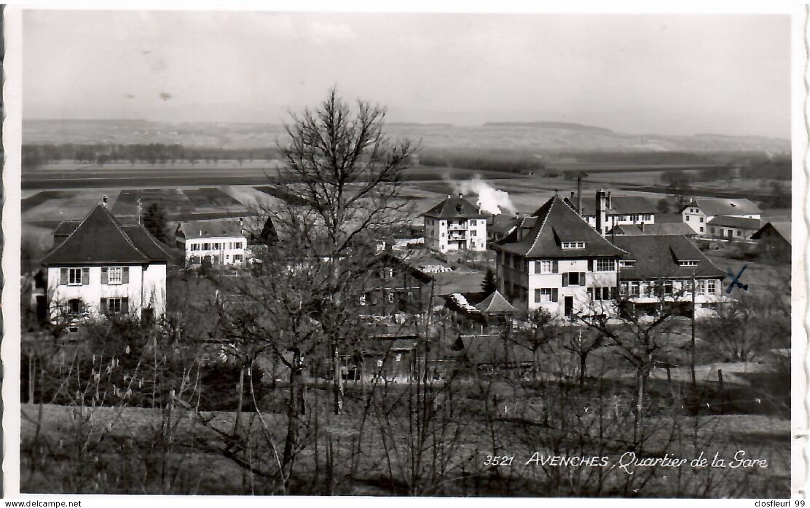
[[[435,148],[525,150],[544,153],[588,151],[758,151],[787,154],[787,139],[754,136],[617,133],[592,125],[566,122],[490,122],[464,126],[449,124],[387,124],[394,137],[419,140]],[[286,136],[281,125],[259,123],[174,123],[153,121],[27,120],[23,143],[178,143],[199,148],[262,148]]]

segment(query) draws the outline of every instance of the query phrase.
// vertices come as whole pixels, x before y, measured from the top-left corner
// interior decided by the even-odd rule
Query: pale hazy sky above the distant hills
[[[25,11],[23,117],[388,121],[790,138],[787,15]]]

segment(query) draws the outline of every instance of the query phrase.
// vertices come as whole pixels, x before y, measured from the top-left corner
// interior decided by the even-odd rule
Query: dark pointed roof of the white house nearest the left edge
[[[72,226],[62,226],[65,231]],[[171,253],[143,226],[122,226],[104,205],[96,205],[42,265],[168,262]]]

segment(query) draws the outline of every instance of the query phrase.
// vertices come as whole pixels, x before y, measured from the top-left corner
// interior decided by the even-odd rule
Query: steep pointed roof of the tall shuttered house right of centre
[[[531,226],[530,226],[531,224]],[[522,238],[519,237],[522,235]],[[582,249],[563,249],[561,242],[585,242]],[[492,244],[492,248],[526,257],[580,258],[586,256],[622,256],[616,248],[556,194],[532,214],[523,219],[504,239]]]

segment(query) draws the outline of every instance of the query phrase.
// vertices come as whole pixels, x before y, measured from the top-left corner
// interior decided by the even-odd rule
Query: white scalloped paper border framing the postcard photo
[[[808,356],[807,330],[810,329],[810,313],[808,313],[808,221],[810,221],[810,202],[808,195],[808,173],[810,155],[808,155],[808,119],[810,119],[810,104],[808,104],[808,83],[810,83],[810,67],[808,67],[808,15],[803,2],[725,2],[719,1],[682,1],[682,2],[598,2],[586,0],[581,2],[522,2],[520,0],[468,0],[458,2],[430,2],[429,0],[390,0],[388,2],[373,2],[372,0],[329,2],[328,0],[275,0],[273,2],[249,2],[237,0],[142,0],[135,1],[103,1],[103,0],[31,0],[19,2],[8,0],[5,11],[5,38],[6,55],[5,83],[3,98],[5,107],[5,121],[3,123],[3,145],[5,150],[5,166],[3,179],[3,209],[2,232],[4,246],[2,249],[2,271],[4,286],[2,288],[3,330],[2,341],[3,383],[2,383],[2,445],[3,459],[2,472],[4,484],[4,497],[40,500],[77,500],[85,502],[83,506],[93,506],[94,502],[109,504],[115,500],[122,506],[138,506],[150,500],[138,496],[31,496],[19,493],[19,248],[20,248],[20,184],[19,167],[21,144],[21,114],[22,100],[20,76],[22,71],[22,9],[28,8],[59,8],[59,9],[114,9],[114,10],[227,10],[227,11],[389,11],[389,12],[591,12],[591,13],[694,13],[694,14],[731,14],[731,13],[763,13],[763,14],[789,14],[791,23],[791,49],[792,49],[792,80],[791,80],[791,108],[793,116],[792,125],[792,154],[793,154],[793,203],[792,227],[794,248],[792,253],[792,388],[791,388],[791,492],[794,497],[807,497],[810,493],[810,447],[808,447],[808,421],[810,421],[810,394],[806,390],[808,373],[810,373],[810,356]],[[799,192],[801,189],[801,192]],[[801,248],[799,248],[801,246]],[[165,497],[168,502],[193,502],[195,506],[221,506],[231,501],[230,497]],[[314,498],[309,498],[314,499]],[[286,500],[274,498],[246,498],[241,497],[240,502],[247,502],[255,506],[266,506],[268,502],[297,503],[304,501],[301,497],[287,498]],[[323,502],[323,499],[320,499]],[[376,497],[341,497],[330,499],[328,502],[339,506],[357,506],[358,504],[377,506],[380,500]],[[420,502],[444,504],[449,499],[420,499]],[[536,506],[538,499],[514,499],[508,501],[494,501],[486,498],[467,498],[463,502],[471,505],[488,506],[492,502],[518,503],[525,506]],[[400,498],[386,498],[386,504],[411,503],[411,500]],[[577,500],[567,500],[566,504]],[[589,502],[589,500],[579,500]],[[600,499],[599,504],[608,506],[626,506],[627,503],[645,502],[643,500],[628,499]],[[706,503],[706,501],[698,503]],[[713,506],[717,501],[710,501]],[[739,502],[739,501],[730,501]],[[646,503],[646,502],[645,502]],[[656,500],[656,503],[672,504],[682,503],[681,500]],[[752,506],[746,503],[746,506]]]

